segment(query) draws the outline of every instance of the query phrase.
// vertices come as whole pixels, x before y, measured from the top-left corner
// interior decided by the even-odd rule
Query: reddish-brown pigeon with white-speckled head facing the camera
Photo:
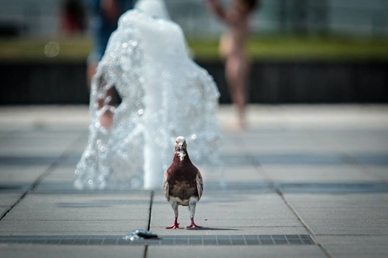
[[[175,141],[175,154],[171,166],[164,173],[163,193],[175,214],[174,225],[166,228],[182,228],[178,223],[178,206],[188,206],[191,225],[186,228],[202,228],[194,223],[195,206],[201,199],[203,181],[201,173],[193,163],[186,150],[186,140],[179,136]]]

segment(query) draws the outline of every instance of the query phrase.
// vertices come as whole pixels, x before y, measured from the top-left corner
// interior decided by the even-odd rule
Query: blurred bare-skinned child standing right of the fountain
[[[217,0],[208,0],[210,9],[228,27],[220,39],[220,52],[226,57],[225,75],[232,102],[237,106],[239,128],[245,127],[248,61],[244,52],[249,34],[249,16],[258,5],[258,0],[232,0],[230,10]]]

